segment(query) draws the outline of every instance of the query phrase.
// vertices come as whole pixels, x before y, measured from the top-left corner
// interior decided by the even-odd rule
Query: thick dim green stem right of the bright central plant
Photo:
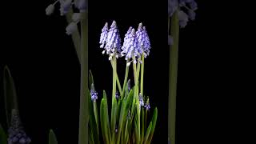
[[[169,67],[169,125],[168,138],[170,143],[175,144],[175,121],[176,121],[176,91],[178,75],[178,36],[179,23],[178,11],[176,10],[171,18],[170,34],[173,37],[173,45],[170,47],[170,67]]]

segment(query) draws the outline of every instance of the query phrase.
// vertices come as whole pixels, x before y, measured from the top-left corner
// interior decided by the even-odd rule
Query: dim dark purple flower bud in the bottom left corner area
[[[19,118],[18,110],[11,111],[11,122],[8,130],[8,144],[29,144],[31,139],[26,135]]]

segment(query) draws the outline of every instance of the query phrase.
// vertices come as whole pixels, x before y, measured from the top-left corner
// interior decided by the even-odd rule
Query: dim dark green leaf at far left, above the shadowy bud
[[[6,122],[10,126],[11,110],[18,110],[18,98],[14,85],[14,79],[11,77],[8,66],[3,71],[3,90],[6,101]]]

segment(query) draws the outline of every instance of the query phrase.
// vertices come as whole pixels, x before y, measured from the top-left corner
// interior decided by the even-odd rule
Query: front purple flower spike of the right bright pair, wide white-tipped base
[[[126,42],[123,42],[121,54],[126,54],[126,60],[133,57],[140,58],[143,50],[139,46],[135,30],[132,29],[131,32],[128,30],[127,35]],[[134,59],[134,63],[136,63],[136,59]]]

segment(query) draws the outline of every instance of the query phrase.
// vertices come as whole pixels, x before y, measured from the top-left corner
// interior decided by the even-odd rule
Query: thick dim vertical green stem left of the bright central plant
[[[78,144],[88,143],[88,13],[81,12],[81,84]]]

